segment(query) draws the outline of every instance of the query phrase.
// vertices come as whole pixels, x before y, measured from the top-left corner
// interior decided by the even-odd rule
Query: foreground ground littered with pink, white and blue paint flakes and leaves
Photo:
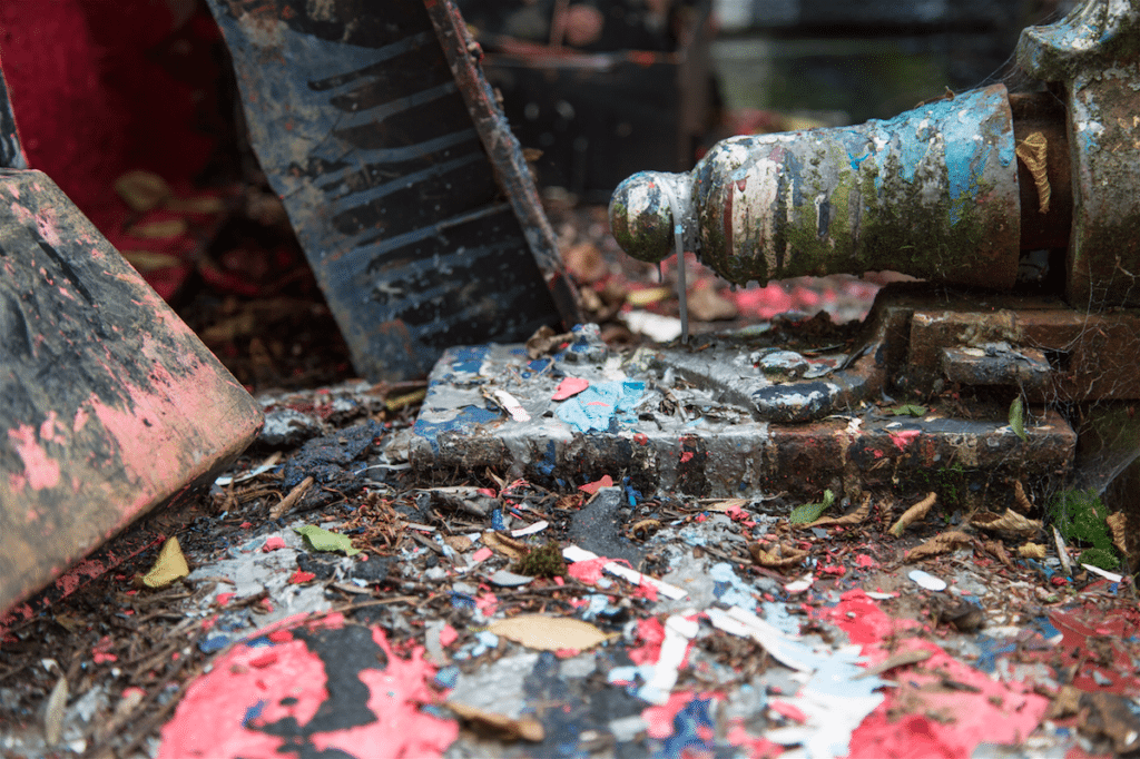
[[[617,472],[430,484],[374,386],[262,402],[264,434],[295,436],[135,529],[173,548],[92,557],[101,574],[5,621],[6,756],[1140,745],[1131,585],[1003,558],[968,525],[944,539],[921,498],[821,498],[797,523],[784,497],[644,497]]]

